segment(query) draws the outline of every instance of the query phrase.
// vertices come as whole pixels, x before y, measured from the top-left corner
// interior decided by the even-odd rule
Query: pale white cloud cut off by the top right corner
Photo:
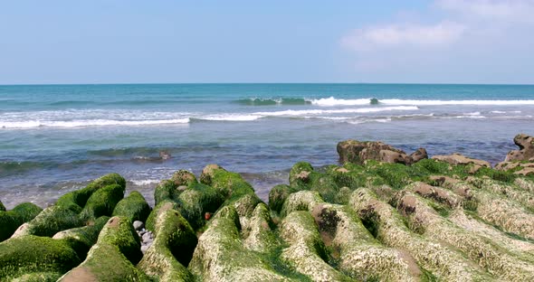
[[[490,20],[515,23],[534,23],[533,0],[438,0],[438,7],[453,13],[477,16]]]

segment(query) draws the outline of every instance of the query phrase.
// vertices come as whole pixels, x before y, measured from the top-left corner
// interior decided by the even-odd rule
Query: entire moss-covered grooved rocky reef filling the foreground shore
[[[350,140],[338,151],[342,164],[294,164],[289,185],[273,187],[267,203],[217,164],[159,183],[153,209],[140,193],[125,196],[119,174],[43,210],[21,203],[6,211],[0,202],[0,280],[534,277],[534,175],[383,143]]]

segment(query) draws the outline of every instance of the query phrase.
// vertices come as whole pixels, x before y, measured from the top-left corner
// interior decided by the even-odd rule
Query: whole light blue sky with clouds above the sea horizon
[[[534,0],[0,2],[0,84],[534,83]]]

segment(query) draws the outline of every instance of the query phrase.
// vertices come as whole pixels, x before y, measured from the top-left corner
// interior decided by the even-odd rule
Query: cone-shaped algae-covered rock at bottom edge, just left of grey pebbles
[[[150,281],[134,267],[142,257],[138,235],[126,217],[112,217],[87,258],[59,281]]]

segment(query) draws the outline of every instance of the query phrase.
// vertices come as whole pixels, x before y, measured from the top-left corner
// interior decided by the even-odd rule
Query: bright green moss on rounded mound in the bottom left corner
[[[0,243],[0,280],[36,272],[65,273],[81,262],[63,240],[28,235]]]

